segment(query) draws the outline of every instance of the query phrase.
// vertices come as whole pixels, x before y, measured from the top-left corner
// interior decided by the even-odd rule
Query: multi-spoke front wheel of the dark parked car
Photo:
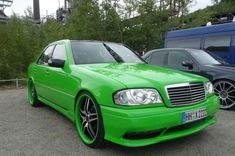
[[[215,94],[220,98],[220,108],[230,110],[235,108],[235,83],[229,80],[219,80],[214,83]]]

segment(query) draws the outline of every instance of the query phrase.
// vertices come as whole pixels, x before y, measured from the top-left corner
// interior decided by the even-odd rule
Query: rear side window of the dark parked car
[[[166,59],[167,51],[158,51],[152,53],[150,64],[163,66]]]

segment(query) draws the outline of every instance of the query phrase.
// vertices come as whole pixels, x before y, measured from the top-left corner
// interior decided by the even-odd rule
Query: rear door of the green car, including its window
[[[48,99],[47,79],[49,76],[48,60],[51,58],[54,45],[45,48],[44,52],[37,61],[37,65],[33,68],[34,83],[39,97]]]

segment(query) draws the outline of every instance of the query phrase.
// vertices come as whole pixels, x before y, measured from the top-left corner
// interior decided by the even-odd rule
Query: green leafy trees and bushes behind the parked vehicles
[[[188,14],[192,0],[80,0],[66,24],[47,19],[40,25],[28,8],[25,17],[0,23],[0,79],[26,77],[42,48],[65,38],[121,42],[139,53],[162,48],[172,28],[201,26],[217,13],[235,12],[234,1],[215,2]]]

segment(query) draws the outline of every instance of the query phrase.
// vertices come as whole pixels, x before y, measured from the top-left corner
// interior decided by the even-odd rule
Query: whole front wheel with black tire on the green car
[[[99,148],[104,144],[104,126],[100,107],[88,92],[82,92],[77,98],[75,124],[84,144],[92,148]]]

